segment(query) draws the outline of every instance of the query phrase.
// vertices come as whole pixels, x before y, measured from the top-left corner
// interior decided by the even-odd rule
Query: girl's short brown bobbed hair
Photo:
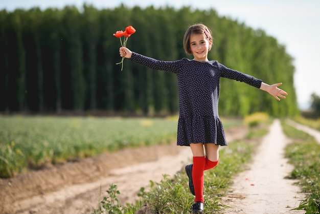
[[[203,24],[194,24],[188,28],[188,30],[185,33],[184,36],[184,49],[187,54],[192,54],[191,48],[190,48],[190,36],[192,34],[201,34],[204,33],[208,40],[211,40],[213,43],[213,37],[211,30],[203,25]],[[210,51],[210,49],[209,49]]]

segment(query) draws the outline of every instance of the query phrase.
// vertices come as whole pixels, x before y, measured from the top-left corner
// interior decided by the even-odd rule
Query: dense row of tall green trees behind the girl
[[[292,57],[261,29],[219,16],[214,9],[140,8],[120,5],[100,9],[16,9],[0,11],[0,111],[59,113],[105,111],[134,114],[178,112],[174,74],[124,60],[116,65],[120,40],[112,34],[133,26],[131,50],[161,60],[185,54],[182,38],[194,23],[214,36],[210,60],[262,79],[283,82],[289,93],[278,102],[244,83],[221,78],[221,115],[254,112],[290,116],[298,113]]]

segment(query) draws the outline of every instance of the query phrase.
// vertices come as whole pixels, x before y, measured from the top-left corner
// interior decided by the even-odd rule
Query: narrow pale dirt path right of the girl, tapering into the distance
[[[250,169],[240,173],[234,180],[234,189],[224,200],[232,208],[223,213],[305,213],[291,210],[304,198],[294,180],[285,179],[293,169],[283,157],[283,149],[289,140],[282,132],[279,120],[270,126]]]

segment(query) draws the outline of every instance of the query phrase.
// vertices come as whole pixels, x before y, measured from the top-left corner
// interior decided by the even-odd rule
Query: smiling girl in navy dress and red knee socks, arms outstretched
[[[184,49],[193,59],[160,61],[120,48],[120,56],[155,70],[175,73],[179,89],[179,120],[177,145],[190,146],[193,164],[186,166],[189,187],[195,195],[191,206],[193,213],[203,213],[203,171],[215,167],[219,162],[219,145],[227,145],[218,114],[220,77],[245,82],[264,90],[277,100],[287,93],[278,88],[282,83],[266,84],[253,76],[228,69],[217,61],[208,60],[213,46],[211,30],[195,24],[185,33]],[[279,98],[280,97],[280,98]],[[204,155],[205,154],[205,155]]]

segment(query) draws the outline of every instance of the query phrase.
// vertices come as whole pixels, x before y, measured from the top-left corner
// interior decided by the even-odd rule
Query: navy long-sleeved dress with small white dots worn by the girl
[[[161,61],[132,52],[131,61],[155,70],[175,73],[179,88],[177,145],[215,143],[227,145],[218,114],[220,77],[245,82],[260,88],[261,80],[228,69],[217,61],[183,58]]]

